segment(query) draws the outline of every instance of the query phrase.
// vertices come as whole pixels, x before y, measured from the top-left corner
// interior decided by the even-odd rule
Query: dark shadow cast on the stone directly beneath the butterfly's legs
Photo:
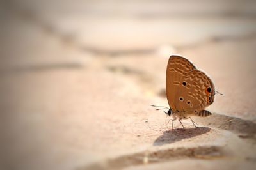
[[[157,137],[154,141],[153,146],[161,146],[164,144],[175,143],[182,139],[188,139],[197,135],[202,135],[209,132],[211,128],[207,127],[195,127],[195,128],[176,128],[173,130],[166,130],[163,135]]]

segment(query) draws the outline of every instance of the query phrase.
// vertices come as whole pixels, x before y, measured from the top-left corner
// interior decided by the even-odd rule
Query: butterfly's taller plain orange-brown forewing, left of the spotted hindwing
[[[170,56],[166,69],[166,97],[173,111],[177,111],[177,109],[181,108],[180,105],[177,104],[177,93],[182,86],[181,80],[195,69],[196,67],[188,61],[188,59],[182,56]]]

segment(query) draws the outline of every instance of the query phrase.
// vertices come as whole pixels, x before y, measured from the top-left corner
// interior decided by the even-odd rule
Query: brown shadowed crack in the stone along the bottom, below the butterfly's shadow
[[[80,167],[78,169],[122,169],[129,166],[139,166],[142,164],[166,162],[181,158],[214,159],[223,156],[223,148],[220,146],[167,148],[164,150],[143,151],[131,155],[122,155],[120,157],[105,160],[103,162],[96,162],[86,167]]]

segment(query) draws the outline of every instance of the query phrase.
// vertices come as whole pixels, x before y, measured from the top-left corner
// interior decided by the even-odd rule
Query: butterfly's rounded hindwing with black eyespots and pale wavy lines
[[[200,70],[192,70],[182,77],[177,88],[175,105],[179,111],[197,114],[214,101],[214,84]]]

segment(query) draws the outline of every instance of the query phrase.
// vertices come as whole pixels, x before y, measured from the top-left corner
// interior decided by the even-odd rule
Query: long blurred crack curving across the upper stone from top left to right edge
[[[74,34],[70,33],[61,33],[61,31],[58,31],[52,24],[47,23],[43,19],[40,19],[40,17],[35,17],[35,13],[33,12],[28,12],[28,11],[21,11],[17,8],[15,8],[13,13],[16,13],[19,15],[20,19],[26,20],[29,22],[32,22],[33,24],[37,25],[40,27],[42,30],[44,30],[47,33],[51,33],[52,36],[55,36],[56,38],[59,38],[63,42],[72,42],[74,47],[76,49],[80,49],[83,52],[88,52],[90,54],[96,55],[96,56],[109,56],[109,57],[126,57],[130,55],[145,55],[145,54],[153,54],[158,50],[158,47],[151,47],[151,48],[145,48],[145,49],[113,49],[113,50],[108,50],[108,49],[100,49],[97,47],[92,47],[90,45],[84,45],[83,43],[77,42],[76,37]],[[254,15],[253,15],[254,16]],[[175,49],[177,50],[184,50],[184,49],[191,49],[198,47],[200,45],[204,45],[205,43],[209,42],[223,42],[223,41],[234,41],[236,42],[237,40],[252,40],[256,38],[256,32],[252,33],[246,33],[244,35],[236,35],[236,36],[209,36],[208,38],[205,38],[204,40],[199,40],[198,42],[193,42],[188,45],[172,45]]]

